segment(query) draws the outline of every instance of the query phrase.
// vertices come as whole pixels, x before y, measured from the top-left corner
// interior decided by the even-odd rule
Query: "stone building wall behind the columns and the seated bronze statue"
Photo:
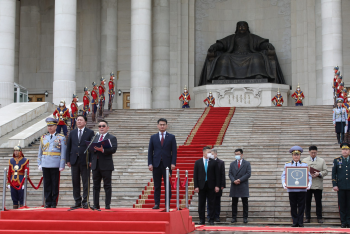
[[[91,89],[91,83],[98,82],[101,76],[109,80],[111,71],[115,74],[120,71],[115,83],[116,90],[122,92],[130,92],[133,79],[144,81],[138,75],[131,77],[132,61],[138,64],[136,54],[132,54],[132,12],[137,12],[132,9],[133,2],[136,7],[149,2],[152,11],[152,14],[142,15],[152,24],[151,33],[144,38],[151,42],[150,53],[144,57],[144,61],[151,61],[151,70],[148,72],[147,88],[142,89],[145,91],[142,97],[147,97],[148,104],[136,105],[135,108],[180,107],[178,97],[183,87],[186,85],[193,93],[198,84],[209,46],[217,39],[234,33],[239,20],[247,21],[252,33],[270,39],[276,47],[286,83],[292,90],[300,84],[306,96],[305,105],[330,104],[331,66],[339,65],[345,85],[350,82],[346,76],[350,72],[350,49],[347,46],[350,2],[347,0],[76,1],[74,82],[75,93],[81,99],[84,86]],[[15,48],[11,47],[11,53],[14,53],[11,56],[15,58],[14,65],[11,65],[14,75],[9,80],[26,87],[29,94],[43,94],[47,90],[49,96],[46,101],[51,102],[55,96],[53,93],[57,91],[53,88],[55,1],[5,2],[16,2],[16,11],[13,12],[16,21],[12,29],[16,34],[13,38]],[[332,14],[327,6],[333,7]],[[327,22],[332,17],[336,23],[329,25]],[[333,35],[332,32],[327,36],[330,27],[336,27],[337,32],[341,30],[340,38],[339,34]],[[166,35],[166,32],[169,34]],[[330,41],[336,47],[327,47]],[[164,50],[167,58],[162,61],[161,51]],[[332,59],[329,53],[334,55]],[[341,62],[333,64],[336,61]],[[160,84],[162,77],[166,82]],[[0,82],[8,82],[1,79]],[[135,83],[136,90],[141,83]],[[71,95],[65,94],[69,102]],[[123,108],[122,97],[116,96],[114,108]],[[165,97],[164,100],[157,102],[162,97]],[[5,105],[2,97],[0,99]],[[135,103],[139,102],[136,100]],[[193,100],[193,103],[196,101]],[[290,98],[288,105],[293,105]]]

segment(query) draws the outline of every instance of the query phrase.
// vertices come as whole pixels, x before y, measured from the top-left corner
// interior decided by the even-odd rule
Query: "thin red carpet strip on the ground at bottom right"
[[[286,233],[350,233],[349,228],[322,228],[322,227],[237,227],[237,226],[196,226],[196,231],[208,232],[286,232]]]

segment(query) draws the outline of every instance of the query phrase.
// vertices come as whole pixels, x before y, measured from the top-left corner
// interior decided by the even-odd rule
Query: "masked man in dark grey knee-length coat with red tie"
[[[243,222],[248,223],[248,197],[249,183],[251,175],[250,163],[243,159],[243,150],[235,150],[235,161],[230,164],[229,177],[231,180],[230,197],[232,197],[232,220],[231,223],[237,222],[237,204],[238,198],[243,203]]]

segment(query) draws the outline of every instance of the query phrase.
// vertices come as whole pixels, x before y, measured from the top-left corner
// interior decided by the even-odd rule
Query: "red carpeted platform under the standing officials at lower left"
[[[185,234],[194,231],[189,210],[68,208],[2,211],[0,233]]]

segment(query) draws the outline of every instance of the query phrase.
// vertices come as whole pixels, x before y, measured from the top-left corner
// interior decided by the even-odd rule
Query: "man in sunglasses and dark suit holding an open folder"
[[[105,208],[110,209],[111,197],[112,197],[112,171],[114,170],[113,154],[117,151],[117,138],[108,133],[108,122],[101,120],[98,124],[99,135],[95,138],[94,142],[100,142],[103,140],[109,140],[112,147],[103,148],[94,147],[91,155],[91,169],[92,180],[94,184],[94,208],[100,209],[100,190],[101,180],[103,179],[103,187],[106,193]]]

